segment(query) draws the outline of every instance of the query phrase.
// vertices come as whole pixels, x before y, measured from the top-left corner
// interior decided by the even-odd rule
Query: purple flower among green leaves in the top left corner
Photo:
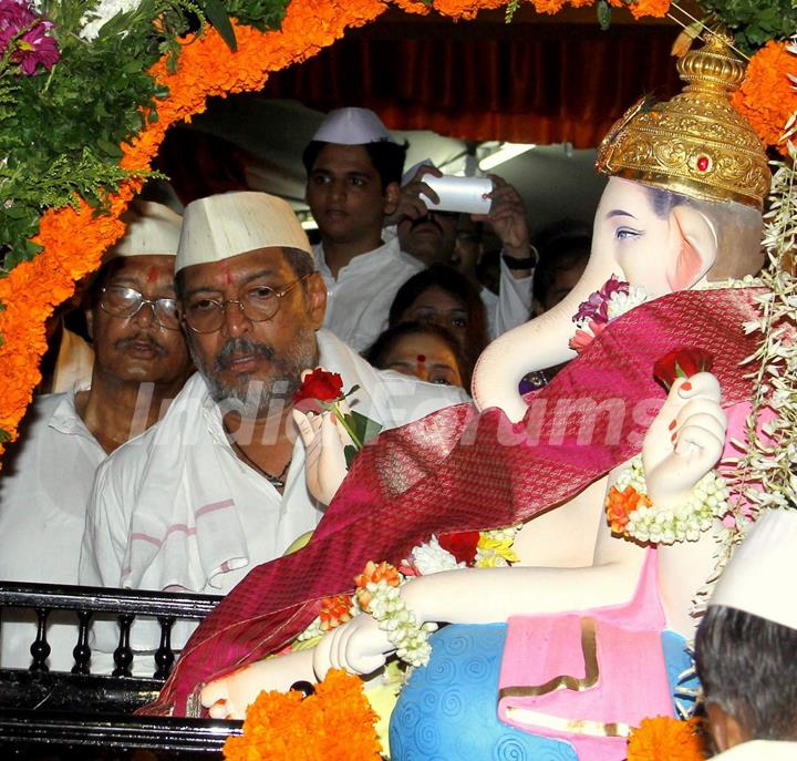
[[[37,16],[25,0],[0,0],[0,55],[13,45],[10,60],[23,74],[34,74],[40,63],[49,71],[61,58],[50,29],[52,23]]]

